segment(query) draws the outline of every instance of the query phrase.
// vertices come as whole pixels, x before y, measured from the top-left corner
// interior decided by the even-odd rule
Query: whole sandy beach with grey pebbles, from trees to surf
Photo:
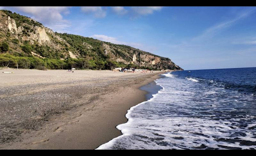
[[[161,73],[1,69],[0,149],[95,149]]]

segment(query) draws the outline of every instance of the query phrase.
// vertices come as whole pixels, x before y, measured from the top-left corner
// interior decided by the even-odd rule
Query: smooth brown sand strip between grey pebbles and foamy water
[[[22,135],[22,142],[2,145],[2,149],[96,149],[100,145],[122,135],[116,126],[127,122],[125,114],[132,106],[146,101],[147,91],[140,87],[160,78],[160,74],[148,73],[147,77],[129,87],[112,86],[107,94],[92,99],[89,106],[82,105],[61,115],[52,115],[41,129]],[[130,73],[128,73],[130,74]],[[140,74],[140,73],[138,73]],[[140,74],[143,75],[143,74]],[[128,83],[128,82],[127,82]],[[107,87],[108,89],[109,87]],[[112,89],[112,90],[111,90]],[[105,93],[105,92],[104,92]],[[114,94],[118,95],[117,97]],[[90,97],[93,97],[90,96]],[[82,103],[84,97],[77,103]]]

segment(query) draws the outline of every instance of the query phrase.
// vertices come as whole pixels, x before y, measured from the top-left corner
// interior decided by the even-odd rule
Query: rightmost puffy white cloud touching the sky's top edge
[[[136,15],[148,15],[152,14],[154,11],[160,11],[162,6],[133,6],[132,11]]]

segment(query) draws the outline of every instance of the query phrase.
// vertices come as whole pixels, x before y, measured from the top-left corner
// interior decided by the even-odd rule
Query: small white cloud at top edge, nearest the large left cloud
[[[81,6],[81,11],[84,13],[93,13],[97,18],[106,16],[106,11],[101,6]]]

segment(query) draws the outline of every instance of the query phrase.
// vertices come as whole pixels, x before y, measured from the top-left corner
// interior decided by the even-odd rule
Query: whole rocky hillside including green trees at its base
[[[0,11],[0,48],[3,67],[183,70],[169,58],[130,46],[53,32],[31,18],[6,10]]]

